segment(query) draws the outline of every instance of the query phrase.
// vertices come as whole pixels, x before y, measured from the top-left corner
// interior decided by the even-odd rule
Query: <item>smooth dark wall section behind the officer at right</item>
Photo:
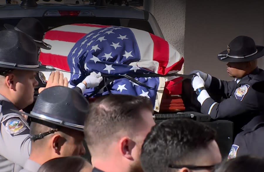
[[[202,70],[220,79],[231,80],[226,63],[217,54],[239,35],[250,36],[263,45],[264,1],[188,0],[185,15],[184,72]],[[264,58],[264,57],[262,57]],[[258,60],[263,67],[263,59]]]

